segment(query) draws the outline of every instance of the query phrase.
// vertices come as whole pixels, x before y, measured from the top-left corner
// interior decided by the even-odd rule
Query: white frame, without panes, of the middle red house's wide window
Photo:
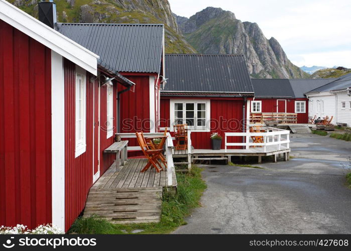
[[[194,125],[195,126],[189,126],[189,129],[191,131],[194,132],[210,132],[210,115],[211,115],[211,106],[210,106],[210,100],[208,99],[171,99],[170,100],[170,126],[171,126],[171,132],[173,132],[173,125],[174,125],[174,121],[175,121],[175,109],[174,109],[174,105],[175,103],[182,103],[183,104],[183,121],[184,123],[185,121],[185,104],[186,103],[194,103]],[[197,104],[198,103],[205,103],[205,126],[197,126]]]

